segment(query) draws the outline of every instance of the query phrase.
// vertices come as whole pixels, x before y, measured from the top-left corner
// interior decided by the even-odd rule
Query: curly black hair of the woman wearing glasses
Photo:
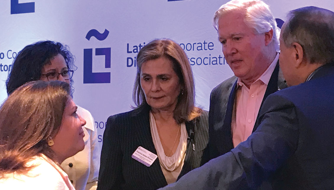
[[[74,57],[66,45],[53,41],[39,41],[25,46],[13,61],[12,70],[6,80],[7,94],[11,94],[26,82],[39,80],[43,66],[50,64],[50,59],[58,54],[64,57],[69,70],[76,70]],[[73,80],[70,79],[71,88],[72,84]]]

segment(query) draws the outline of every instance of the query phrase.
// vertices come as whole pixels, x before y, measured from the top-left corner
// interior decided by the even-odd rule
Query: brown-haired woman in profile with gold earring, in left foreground
[[[74,190],[60,163],[85,147],[69,84],[33,81],[0,107],[0,189]]]

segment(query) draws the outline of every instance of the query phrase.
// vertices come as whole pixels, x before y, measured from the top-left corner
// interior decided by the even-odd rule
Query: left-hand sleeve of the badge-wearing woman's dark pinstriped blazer
[[[116,116],[108,118],[103,134],[98,190],[121,189],[121,184],[124,181],[122,175],[121,127],[116,120]]]

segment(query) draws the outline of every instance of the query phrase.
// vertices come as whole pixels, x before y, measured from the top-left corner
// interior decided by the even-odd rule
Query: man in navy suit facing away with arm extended
[[[280,41],[291,87],[267,97],[246,141],[165,189],[334,189],[334,12],[290,11]]]

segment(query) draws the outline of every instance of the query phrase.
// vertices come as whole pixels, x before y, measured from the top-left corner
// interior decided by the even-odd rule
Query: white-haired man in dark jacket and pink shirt
[[[256,130],[263,101],[287,87],[279,69],[277,24],[267,4],[232,0],[219,8],[213,19],[235,76],[211,92],[209,159],[246,140]]]

